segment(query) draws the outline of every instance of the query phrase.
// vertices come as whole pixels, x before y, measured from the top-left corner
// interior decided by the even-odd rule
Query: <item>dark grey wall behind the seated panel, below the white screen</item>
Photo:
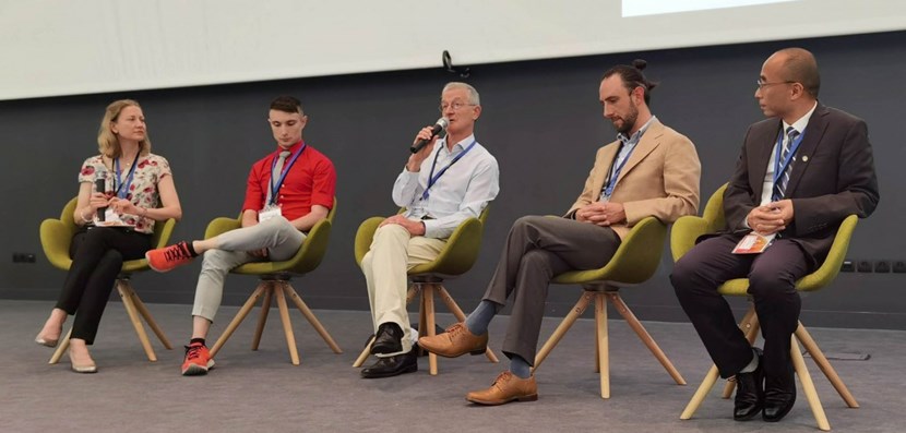
[[[510,225],[526,214],[560,214],[580,193],[595,151],[615,132],[601,118],[600,74],[641,57],[648,76],[661,82],[653,110],[696,144],[707,197],[732,171],[748,124],[762,118],[753,99],[763,60],[787,46],[811,49],[819,59],[821,100],[865,118],[874,145],[881,205],[861,221],[850,257],[906,260],[899,219],[906,194],[899,132],[906,33],[747,44],[481,65],[468,82],[482,97],[477,136],[498,158],[501,194],[493,203],[475,268],[449,281],[469,311],[493,272]],[[359,222],[395,211],[392,182],[415,132],[438,117],[441,86],[456,79],[437,70],[289,80],[240,85],[147,91],[0,103],[0,191],[4,203],[0,243],[0,297],[56,297],[63,273],[40,252],[38,226],[56,217],[76,192],[80,164],[95,153],[97,122],[110,100],[138,99],[156,153],[174,168],[184,218],[175,239],[202,236],[211,219],[239,211],[249,167],[274,147],[265,122],[270,100],[299,96],[310,116],[309,144],[330,156],[338,172],[338,211],[327,256],[297,289],[312,308],[367,309],[361,273],[353,260]],[[35,264],[13,264],[14,252],[37,254]],[[644,320],[684,321],[667,276],[669,253],[649,282],[625,290]],[[135,287],[150,302],[192,302],[200,263],[164,275],[140,275]],[[808,297],[803,316],[825,326],[906,328],[906,274],[844,274],[834,287]],[[240,303],[254,279],[228,278],[224,301]],[[563,314],[579,296],[574,287],[550,290],[550,314]],[[744,308],[744,302],[735,303]],[[186,306],[186,328],[190,306]]]

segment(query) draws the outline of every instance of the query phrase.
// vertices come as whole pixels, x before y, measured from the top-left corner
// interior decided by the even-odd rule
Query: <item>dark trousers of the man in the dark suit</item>
[[[806,253],[788,239],[776,239],[761,254],[732,254],[738,239],[720,236],[702,241],[673,266],[670,281],[680,305],[702,338],[722,377],[730,377],[752,360],[752,349],[717,287],[749,278],[749,294],[764,337],[764,373],[783,377],[790,368],[790,338],[802,302],[796,280],[811,269]]]

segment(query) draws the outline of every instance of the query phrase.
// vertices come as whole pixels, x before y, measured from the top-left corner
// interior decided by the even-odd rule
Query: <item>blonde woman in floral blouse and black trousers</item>
[[[122,262],[144,257],[156,221],[182,216],[170,165],[151,153],[139,103],[122,99],[107,106],[97,144],[100,155],[85,159],[79,173],[72,266],[56,308],[35,338],[39,345],[57,346],[63,322],[74,314],[69,357],[78,373],[97,371],[87,346],[94,342]],[[105,191],[94,191],[99,179],[106,179]],[[106,213],[104,221],[98,209]]]

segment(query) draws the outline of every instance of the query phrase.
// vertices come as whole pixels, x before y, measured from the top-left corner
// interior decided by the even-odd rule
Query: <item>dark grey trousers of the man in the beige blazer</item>
[[[543,216],[517,219],[485,292],[498,311],[513,294],[503,353],[534,365],[550,280],[568,270],[601,267],[619,246],[620,237],[609,227]]]

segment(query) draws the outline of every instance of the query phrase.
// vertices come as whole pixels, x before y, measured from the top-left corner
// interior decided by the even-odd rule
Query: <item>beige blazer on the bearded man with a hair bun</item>
[[[577,208],[600,199],[619,148],[620,142],[615,141],[598,149],[585,189],[568,216],[573,217]],[[672,222],[683,215],[695,215],[701,176],[702,165],[692,142],[655,119],[617,178],[610,202],[623,205],[627,220],[610,227],[623,239],[645,217]]]

